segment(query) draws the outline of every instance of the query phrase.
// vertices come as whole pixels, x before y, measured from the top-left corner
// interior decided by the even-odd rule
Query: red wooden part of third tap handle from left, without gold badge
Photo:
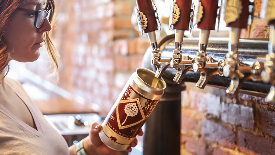
[[[204,30],[215,30],[218,0],[200,0],[203,6],[203,17],[197,24],[198,28]]]

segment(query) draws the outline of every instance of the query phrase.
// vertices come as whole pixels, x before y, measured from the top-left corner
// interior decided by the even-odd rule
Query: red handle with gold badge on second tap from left
[[[169,27],[189,30],[192,0],[174,0],[170,8]]]

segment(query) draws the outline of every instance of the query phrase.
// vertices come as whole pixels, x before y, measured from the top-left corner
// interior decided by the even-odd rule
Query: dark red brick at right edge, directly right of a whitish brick
[[[258,117],[262,130],[266,134],[275,137],[275,111],[259,109]]]

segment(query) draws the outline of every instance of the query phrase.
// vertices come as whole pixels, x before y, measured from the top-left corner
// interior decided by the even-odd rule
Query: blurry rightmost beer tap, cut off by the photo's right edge
[[[267,94],[265,101],[275,104],[275,14],[274,14],[275,0],[265,0],[262,2],[261,16],[263,16],[270,25],[270,35],[268,44],[268,54],[266,55],[266,62],[264,70],[262,71],[262,80],[265,83],[271,83],[270,91]]]

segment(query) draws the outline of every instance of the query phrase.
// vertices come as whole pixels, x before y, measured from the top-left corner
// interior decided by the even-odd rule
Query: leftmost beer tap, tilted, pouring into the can
[[[158,47],[156,30],[160,30],[160,20],[156,6],[153,4],[152,0],[136,0],[136,3],[138,27],[141,31],[141,35],[143,33],[147,33],[148,35],[153,53],[151,65],[156,66],[155,77],[160,78],[165,69],[170,66],[170,59],[162,59],[160,49]]]

